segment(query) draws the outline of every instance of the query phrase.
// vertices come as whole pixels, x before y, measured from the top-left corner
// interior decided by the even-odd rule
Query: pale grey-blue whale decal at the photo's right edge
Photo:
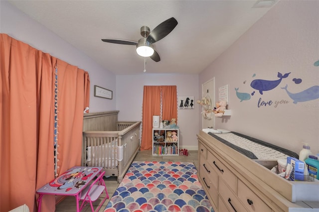
[[[319,86],[313,86],[309,89],[306,89],[305,91],[302,91],[296,94],[290,93],[287,90],[287,87],[288,85],[286,85],[282,89],[286,90],[288,96],[294,101],[295,104],[299,102],[307,102],[307,101],[319,99]]]

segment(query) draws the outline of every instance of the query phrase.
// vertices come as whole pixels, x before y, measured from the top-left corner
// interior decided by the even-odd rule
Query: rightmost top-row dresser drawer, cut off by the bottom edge
[[[271,212],[256,194],[250,190],[242,181],[238,180],[238,198],[250,212]]]

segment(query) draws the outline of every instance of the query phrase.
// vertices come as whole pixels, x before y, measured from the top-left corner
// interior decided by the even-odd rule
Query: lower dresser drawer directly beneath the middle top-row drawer
[[[225,202],[227,208],[232,211],[237,212],[247,212],[241,202],[237,197],[231,192],[231,190],[226,186],[226,183],[223,180],[218,181],[218,192]],[[219,209],[218,209],[219,211]]]

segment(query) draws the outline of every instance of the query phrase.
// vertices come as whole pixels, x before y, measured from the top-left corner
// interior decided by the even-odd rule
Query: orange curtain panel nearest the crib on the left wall
[[[58,174],[81,165],[83,110],[89,106],[89,75],[57,59]]]

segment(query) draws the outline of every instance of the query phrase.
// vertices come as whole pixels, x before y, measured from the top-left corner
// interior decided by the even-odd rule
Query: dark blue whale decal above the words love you
[[[261,95],[263,95],[263,91],[270,91],[270,90],[273,90],[274,88],[276,88],[282,79],[284,78],[287,78],[289,76],[291,72],[287,73],[287,74],[284,74],[284,76],[278,72],[278,75],[277,77],[279,77],[279,80],[274,80],[274,81],[271,81],[271,80],[253,80],[250,84],[250,86],[253,88],[253,89],[256,89],[259,91],[259,93]]]

